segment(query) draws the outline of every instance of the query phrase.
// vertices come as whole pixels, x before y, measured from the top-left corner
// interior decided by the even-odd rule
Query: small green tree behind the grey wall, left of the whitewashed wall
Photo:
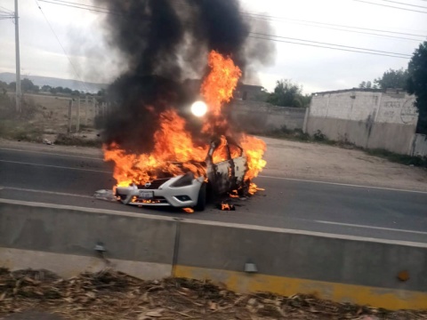
[[[280,107],[307,107],[307,97],[302,95],[302,85],[287,79],[276,82],[274,92],[270,93],[267,101]]]

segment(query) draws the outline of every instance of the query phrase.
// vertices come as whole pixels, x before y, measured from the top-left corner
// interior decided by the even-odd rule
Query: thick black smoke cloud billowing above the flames
[[[111,12],[105,36],[127,65],[109,86],[112,108],[103,123],[103,139],[129,152],[149,152],[159,114],[176,108],[188,118],[189,131],[200,132],[186,111],[196,97],[183,82],[203,76],[206,54],[230,55],[245,75],[246,66],[270,52],[247,50],[250,25],[238,0],[97,0]],[[250,54],[248,54],[250,52]],[[194,134],[193,134],[194,135]]]

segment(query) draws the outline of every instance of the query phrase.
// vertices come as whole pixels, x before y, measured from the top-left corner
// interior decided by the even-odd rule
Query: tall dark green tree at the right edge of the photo
[[[407,67],[407,92],[415,94],[419,118],[417,132],[427,134],[427,41],[420,44]]]

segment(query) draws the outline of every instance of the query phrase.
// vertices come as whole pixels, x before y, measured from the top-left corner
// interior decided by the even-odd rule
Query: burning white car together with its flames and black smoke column
[[[206,192],[256,192],[266,146],[238,132],[228,108],[242,76],[266,62],[270,48],[250,41],[238,1],[98,1],[117,12],[106,36],[129,66],[109,86],[113,109],[102,132],[116,196],[203,210]],[[188,76],[203,78],[198,92],[186,86]],[[189,112],[197,100],[205,116]]]

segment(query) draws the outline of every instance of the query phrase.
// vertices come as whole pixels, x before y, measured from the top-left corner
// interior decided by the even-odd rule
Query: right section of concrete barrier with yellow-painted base
[[[216,223],[183,222],[179,233],[174,276],[212,279],[238,292],[427,308],[427,244]],[[246,263],[257,272],[246,273]]]

